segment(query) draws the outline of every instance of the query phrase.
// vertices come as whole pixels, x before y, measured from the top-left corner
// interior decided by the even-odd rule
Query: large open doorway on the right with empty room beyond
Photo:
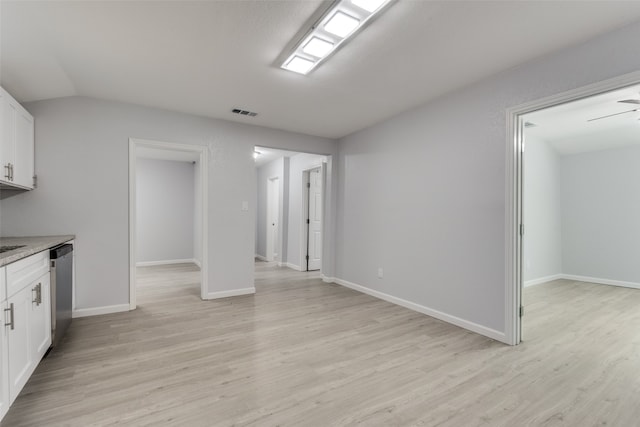
[[[519,120],[521,339],[626,340],[639,326],[640,85]]]

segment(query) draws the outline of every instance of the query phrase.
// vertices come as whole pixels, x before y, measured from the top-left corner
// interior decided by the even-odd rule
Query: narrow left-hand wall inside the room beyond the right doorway
[[[560,156],[526,131],[523,204],[526,285],[562,273]]]

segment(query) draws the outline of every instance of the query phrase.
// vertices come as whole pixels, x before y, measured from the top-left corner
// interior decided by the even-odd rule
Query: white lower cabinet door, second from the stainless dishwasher
[[[33,351],[29,342],[31,328],[31,286],[27,286],[7,300],[5,331],[9,346],[9,398],[10,403],[18,396],[35,368]]]

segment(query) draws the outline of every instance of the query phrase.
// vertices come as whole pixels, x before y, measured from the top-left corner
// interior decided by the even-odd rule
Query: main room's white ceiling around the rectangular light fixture
[[[3,0],[0,84],[337,138],[640,19],[638,1],[401,0],[310,75],[279,69],[329,4]]]

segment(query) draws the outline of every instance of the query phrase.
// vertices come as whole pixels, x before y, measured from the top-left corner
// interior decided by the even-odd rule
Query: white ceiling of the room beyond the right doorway
[[[639,145],[640,105],[618,102],[625,99],[640,99],[640,86],[527,114],[523,120],[536,126],[525,136],[545,140],[561,155]],[[622,112],[627,113],[589,121]]]

